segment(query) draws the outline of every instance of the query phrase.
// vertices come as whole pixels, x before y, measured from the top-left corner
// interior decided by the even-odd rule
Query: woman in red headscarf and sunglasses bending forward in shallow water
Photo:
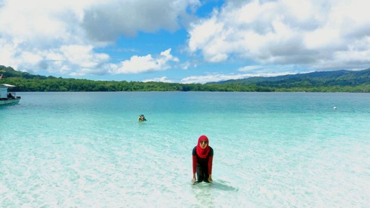
[[[207,136],[202,135],[193,149],[193,183],[202,181],[212,183],[213,149],[209,146]],[[195,178],[195,172],[198,180]]]

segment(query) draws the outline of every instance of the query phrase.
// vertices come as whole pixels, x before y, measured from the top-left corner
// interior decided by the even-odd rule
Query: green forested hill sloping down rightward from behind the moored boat
[[[0,65],[1,83],[15,85],[12,91],[265,91],[235,84],[181,84],[160,82],[92,81],[32,75]]]

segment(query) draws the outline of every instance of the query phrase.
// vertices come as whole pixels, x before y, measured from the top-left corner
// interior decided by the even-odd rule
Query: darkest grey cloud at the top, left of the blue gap
[[[87,8],[82,26],[98,41],[114,41],[122,34],[135,36],[137,31],[175,31],[180,27],[179,17],[187,17],[186,9],[198,5],[199,0],[110,0]]]

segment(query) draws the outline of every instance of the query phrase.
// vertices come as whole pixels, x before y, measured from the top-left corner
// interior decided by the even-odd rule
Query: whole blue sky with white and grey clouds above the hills
[[[0,65],[207,83],[370,68],[369,0],[0,0]]]

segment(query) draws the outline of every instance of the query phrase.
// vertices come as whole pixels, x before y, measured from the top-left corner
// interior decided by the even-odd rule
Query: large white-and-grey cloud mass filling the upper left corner
[[[39,44],[91,44],[114,42],[138,31],[174,31],[180,27],[179,18],[189,15],[187,8],[200,1],[3,0],[1,5],[1,34]]]

